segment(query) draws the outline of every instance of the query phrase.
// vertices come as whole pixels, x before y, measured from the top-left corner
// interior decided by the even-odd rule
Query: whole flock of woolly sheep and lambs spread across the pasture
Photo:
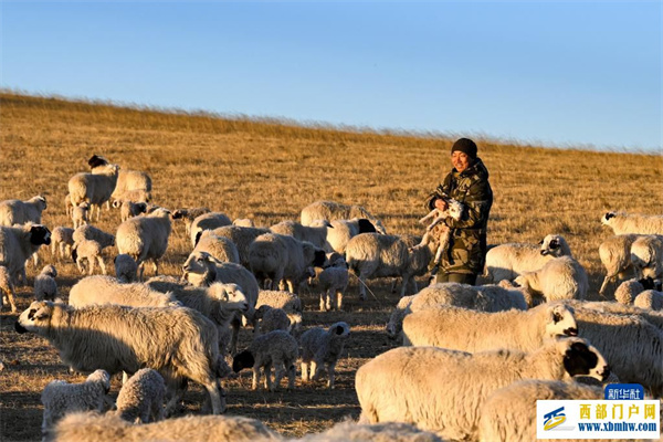
[[[294,389],[301,360],[303,382],[326,375],[334,388],[350,326],[303,332],[297,292],[316,280],[319,309],[340,311],[350,273],[361,299],[369,280],[391,277],[392,288],[400,280],[387,334],[402,347],[357,371],[360,421],[311,440],[530,441],[537,399],[601,399],[596,385],[614,381],[663,393],[663,217],[602,218],[615,235],[599,248],[607,273],[600,294],[615,286],[617,302],[585,301],[587,274],[558,234],[491,248],[484,285],[419,291],[415,277],[448,241],[438,221],[453,213],[431,213],[419,238],[387,234],[361,207],[317,201],[299,222],[259,228],[207,208],[155,206],[147,173],[96,155],[88,165],[69,181],[73,228],[41,224],[43,197],[0,202],[0,288],[12,312],[14,286],[25,284],[27,262],[39,265],[42,245],[88,274],[65,304],[55,266],[45,265],[34,278],[35,301],[15,323],[17,332],[46,338],[72,370],[92,373],[43,390],[44,440],[283,440],[256,420],[218,415],[225,410],[221,382],[250,368],[253,389],[261,375],[269,390],[284,377]],[[122,218],[115,234],[92,225],[112,200]],[[191,253],[181,277],[159,275],[179,219]],[[115,277],[106,275],[110,246],[118,252]],[[145,281],[147,261],[155,276]],[[103,275],[93,274],[96,264]],[[242,325],[253,340],[238,352]],[[109,377],[117,372],[123,387],[112,403]],[[201,409],[214,415],[172,418],[189,381],[208,392]]]

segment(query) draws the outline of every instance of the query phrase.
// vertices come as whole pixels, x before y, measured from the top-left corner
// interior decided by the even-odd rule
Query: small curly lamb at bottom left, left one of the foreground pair
[[[64,380],[49,382],[41,394],[44,406],[42,434],[57,423],[65,414],[76,411],[103,411],[110,390],[110,376],[105,370],[95,370],[82,383]]]

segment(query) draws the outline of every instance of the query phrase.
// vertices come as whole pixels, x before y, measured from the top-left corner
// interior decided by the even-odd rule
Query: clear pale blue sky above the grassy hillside
[[[2,1],[2,87],[661,149],[662,2]]]

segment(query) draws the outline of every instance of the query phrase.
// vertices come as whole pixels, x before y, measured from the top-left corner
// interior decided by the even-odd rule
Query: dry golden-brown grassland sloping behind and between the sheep
[[[71,225],[63,199],[71,176],[87,170],[86,160],[101,154],[124,168],[149,172],[156,203],[176,209],[207,206],[231,218],[251,218],[256,225],[297,220],[301,209],[319,199],[359,203],[380,218],[390,233],[421,234],[417,220],[422,201],[450,169],[453,139],[400,133],[305,127],[295,124],[164,113],[0,94],[0,200],[45,194],[49,228]],[[488,243],[538,242],[560,233],[590,275],[590,297],[597,297],[603,270],[598,246],[612,232],[600,217],[609,210],[662,213],[661,156],[541,148],[478,139],[480,156],[491,171],[495,202]],[[119,212],[104,209],[98,225],[115,233]],[[162,273],[180,275],[190,251],[181,223],[173,224]],[[108,269],[112,251],[107,253]],[[72,262],[40,251],[41,264],[53,262],[66,298],[81,278]],[[28,286],[19,287],[19,312],[31,302],[35,269],[28,266]],[[151,266],[146,267],[151,275]],[[294,392],[250,391],[250,373],[225,382],[228,413],[256,418],[287,435],[330,427],[344,417],[357,418],[354,376],[368,359],[393,347],[383,333],[398,296],[387,281],[369,283],[375,297],[358,301],[350,282],[346,309],[317,312],[315,287],[305,287],[305,326],[346,320],[352,327],[337,367],[337,386],[324,381]],[[56,351],[42,338],[19,335],[18,315],[1,315],[0,439],[39,440],[40,394],[53,379],[78,382]],[[250,332],[243,330],[241,347]],[[116,377],[112,392],[117,394]],[[199,411],[203,390],[192,386],[183,412]]]

